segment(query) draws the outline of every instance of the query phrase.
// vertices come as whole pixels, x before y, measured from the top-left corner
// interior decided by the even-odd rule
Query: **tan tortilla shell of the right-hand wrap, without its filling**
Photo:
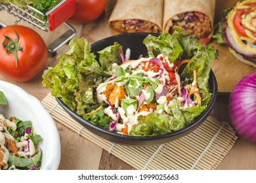
[[[169,21],[178,14],[185,12],[202,12],[209,17],[211,24],[211,33],[213,34],[213,21],[215,12],[215,0],[165,0],[163,10],[163,32],[169,32],[171,24]]]

